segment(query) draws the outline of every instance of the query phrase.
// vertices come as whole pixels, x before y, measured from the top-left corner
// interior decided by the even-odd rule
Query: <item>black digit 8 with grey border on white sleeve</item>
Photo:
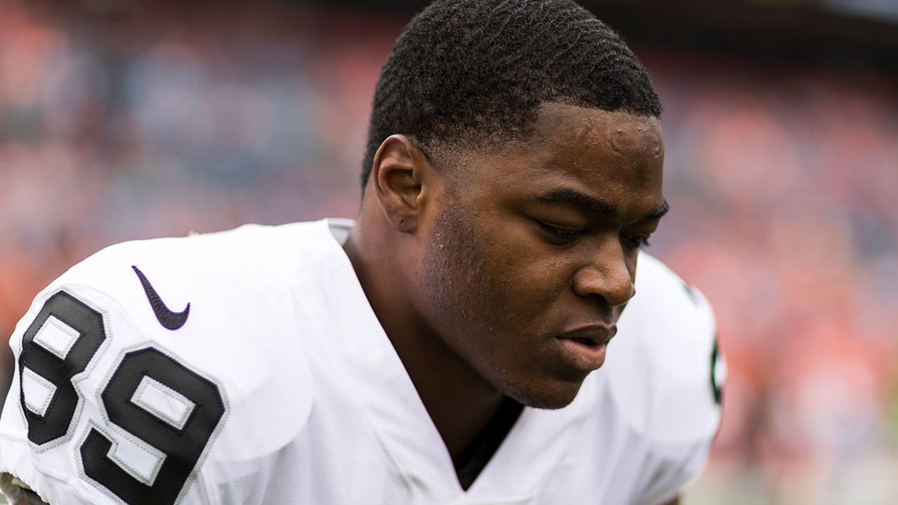
[[[65,356],[34,341],[50,316],[79,333]],[[42,415],[22,408],[28,422],[28,439],[41,446],[66,436],[72,417],[78,407],[79,395],[72,384],[72,377],[84,371],[93,355],[106,340],[103,316],[83,302],[60,291],[49,297],[40,309],[37,319],[22,337],[22,355],[19,357],[19,377],[24,384],[25,368],[56,386]],[[21,387],[22,405],[25,405],[25,388]]]

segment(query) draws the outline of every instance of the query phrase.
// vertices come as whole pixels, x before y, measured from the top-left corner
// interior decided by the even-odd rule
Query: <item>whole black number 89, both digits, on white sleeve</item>
[[[51,316],[62,325],[50,321]],[[47,333],[35,341],[48,323]],[[102,315],[65,291],[41,307],[22,336],[19,357],[20,402],[33,443],[42,446],[65,437],[75,424],[81,395],[72,377],[87,368],[106,338]],[[56,388],[43,405],[26,406],[26,368],[29,375],[38,376],[32,381]],[[137,395],[141,387],[152,388],[157,397],[169,395],[182,406],[180,417],[153,412],[152,402],[142,403]],[[110,459],[112,441],[91,428],[79,449],[84,473],[131,505],[177,501],[225,415],[218,386],[161,350],[147,347],[125,354],[101,399],[110,423],[163,453],[163,462],[152,477],[138,479]]]

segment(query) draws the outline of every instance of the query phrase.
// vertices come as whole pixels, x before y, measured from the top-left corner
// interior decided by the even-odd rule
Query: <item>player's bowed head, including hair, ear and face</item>
[[[569,403],[666,209],[659,115],[637,58],[573,2],[419,13],[374,94],[359,217],[418,348],[522,403]]]

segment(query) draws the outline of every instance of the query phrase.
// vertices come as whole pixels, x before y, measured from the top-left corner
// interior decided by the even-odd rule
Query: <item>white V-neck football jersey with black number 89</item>
[[[341,242],[346,222],[119,244],[13,333],[0,473],[50,504],[641,504],[720,419],[707,301],[647,254],[603,368],[525,408],[465,491]]]

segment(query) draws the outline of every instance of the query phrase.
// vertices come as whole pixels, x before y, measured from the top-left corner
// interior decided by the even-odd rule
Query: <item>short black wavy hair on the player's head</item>
[[[386,137],[467,147],[526,139],[542,102],[661,116],[633,52],[573,1],[437,0],[381,69],[362,188]]]

